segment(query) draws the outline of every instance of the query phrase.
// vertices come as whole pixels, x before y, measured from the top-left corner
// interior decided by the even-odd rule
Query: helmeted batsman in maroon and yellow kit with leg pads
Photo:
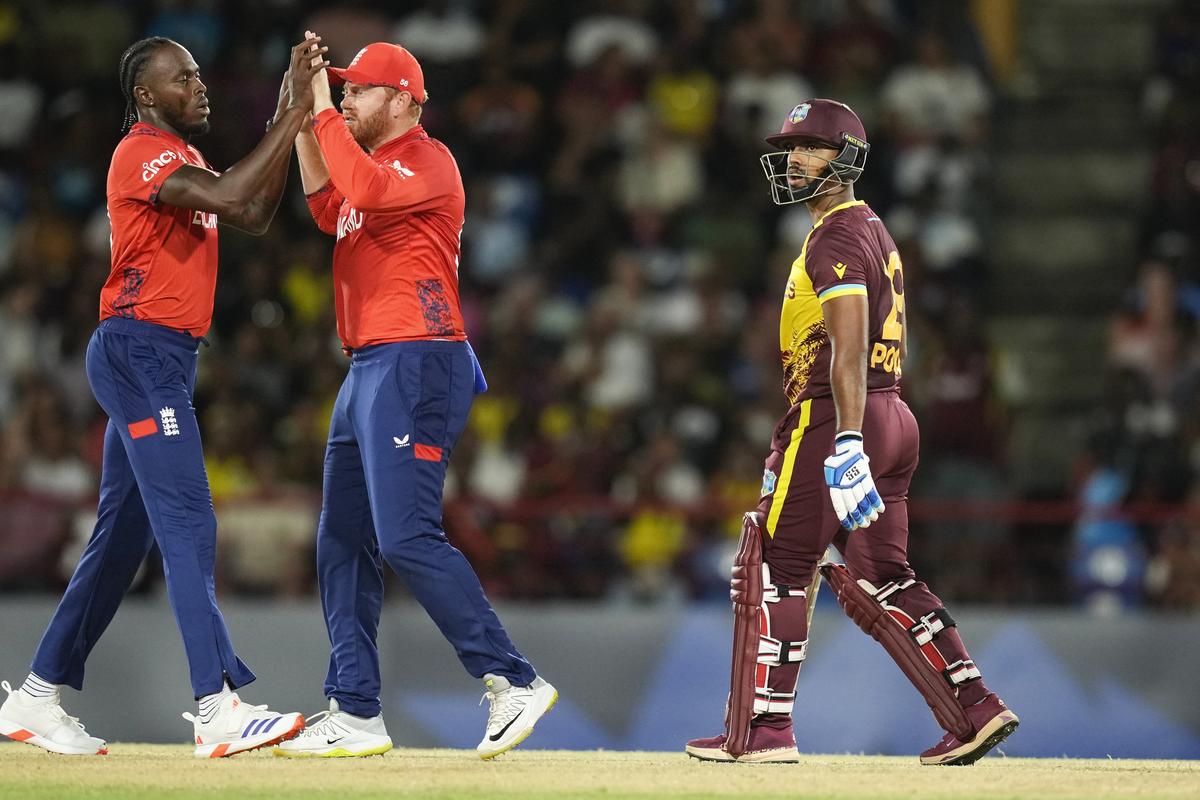
[[[904,266],[854,199],[866,132],[847,106],[810,100],[767,138],[778,205],[804,203],[812,230],[784,291],[779,349],[792,403],[775,427],[762,499],[733,565],[733,664],[725,733],[688,742],[718,762],[794,762],[796,680],[808,650],[814,575],[878,640],[947,732],[922,764],[971,764],[1018,726],[983,682],[954,619],[908,565],[917,421],[900,398]],[[834,545],[840,564],[821,564]],[[810,585],[811,584],[811,585]]]

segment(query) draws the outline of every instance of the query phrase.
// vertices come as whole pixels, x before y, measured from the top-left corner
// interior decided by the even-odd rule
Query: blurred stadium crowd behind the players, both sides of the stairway
[[[997,266],[983,188],[995,82],[968,5],[0,2],[0,588],[58,589],[90,533],[104,417],[83,348],[109,269],[116,59],[149,35],[200,65],[212,131],[196,144],[218,168],[257,140],[298,31],[322,34],[335,65],[372,41],[421,60],[422,122],[467,187],[463,309],[491,384],[451,462],[446,530],[492,596],[727,596],[738,518],[786,402],[778,295],[811,224],[804,207],[772,205],[757,160],[810,96],[863,118],[872,146],[858,196],[884,215],[914,287],[914,499],[1003,500],[1004,399],[980,321]],[[1175,58],[1154,94],[1147,263],[1112,327],[1114,396],[1127,404],[1108,410],[1122,435],[1098,432],[1087,481],[1133,449],[1151,471],[1120,499],[1200,501],[1187,413],[1200,303],[1180,279],[1187,258],[1194,276],[1198,245],[1196,29],[1164,24],[1163,36]],[[313,594],[322,456],[347,367],[331,249],[294,172],[265,236],[222,231],[196,404],[227,590]],[[1156,469],[1178,485],[1147,498],[1165,486]],[[1009,525],[916,511],[919,567],[948,599],[1060,597],[1012,579]],[[1076,530],[1078,547],[1086,539]],[[1195,523],[1133,531],[1152,600],[1200,606],[1198,539]]]

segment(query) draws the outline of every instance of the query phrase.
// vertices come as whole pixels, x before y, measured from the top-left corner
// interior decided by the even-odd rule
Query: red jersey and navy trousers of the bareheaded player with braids
[[[112,271],[86,354],[109,419],[98,518],[32,663],[47,681],[77,690],[152,541],[196,697],[254,679],[216,603],[216,516],[192,407],[198,343],[212,320],[217,218],[158,201],[184,164],[209,169],[196,148],[138,122],[108,172]]]

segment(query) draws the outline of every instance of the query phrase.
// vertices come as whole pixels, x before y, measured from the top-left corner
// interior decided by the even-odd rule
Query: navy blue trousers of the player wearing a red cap
[[[467,425],[475,379],[466,342],[397,342],[352,355],[330,422],[317,531],[332,645],[325,696],[343,711],[380,712],[376,640],[384,561],[468,673],[503,675],[520,686],[536,676],[442,530],[446,463]]]

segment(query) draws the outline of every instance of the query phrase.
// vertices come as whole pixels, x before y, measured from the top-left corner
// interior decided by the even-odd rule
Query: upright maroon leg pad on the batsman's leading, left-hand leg
[[[750,745],[755,668],[758,664],[758,607],[762,606],[763,517],[751,511],[742,519],[742,541],[733,558],[730,600],[733,601],[733,663],[730,703],[725,711],[725,750],[737,758]]]

